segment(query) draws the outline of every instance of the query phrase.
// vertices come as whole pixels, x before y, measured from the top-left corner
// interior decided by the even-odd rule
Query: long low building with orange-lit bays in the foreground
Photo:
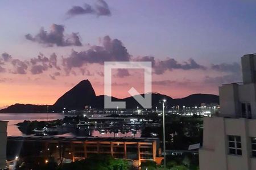
[[[133,160],[135,165],[146,160],[161,163],[158,138],[105,137],[8,137],[8,157],[48,159],[57,162],[86,159],[93,154],[112,155]]]

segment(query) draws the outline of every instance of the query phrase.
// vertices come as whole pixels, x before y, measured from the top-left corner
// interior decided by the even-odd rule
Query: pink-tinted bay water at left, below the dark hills
[[[67,115],[62,113],[48,113],[48,120],[62,119]],[[23,135],[18,129],[19,122],[24,120],[30,121],[47,121],[47,113],[0,113],[0,120],[9,121],[7,126],[7,135]]]

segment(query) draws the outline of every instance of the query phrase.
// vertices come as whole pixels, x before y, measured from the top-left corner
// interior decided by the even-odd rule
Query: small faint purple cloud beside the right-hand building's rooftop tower
[[[212,64],[211,68],[216,71],[227,72],[227,73],[241,73],[241,66],[237,62],[221,63],[218,65]]]

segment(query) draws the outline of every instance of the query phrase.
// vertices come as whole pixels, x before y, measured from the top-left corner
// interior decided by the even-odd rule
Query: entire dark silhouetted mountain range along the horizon
[[[63,96],[57,99],[55,104],[50,105],[48,111],[61,112],[64,108],[66,108],[67,110],[82,110],[86,105],[90,105],[93,108],[102,109],[104,108],[104,97],[105,95],[96,96],[92,84],[90,84],[89,80],[82,80],[79,84],[77,84],[71,90],[66,92]],[[193,94],[180,99],[172,99],[172,97],[170,96],[152,93],[152,109],[154,109],[155,107],[162,107],[162,103],[160,103],[159,101],[162,101],[163,99],[167,100],[166,103],[168,107],[176,105],[185,105],[187,107],[199,107],[201,103],[218,104],[219,102],[217,95]],[[116,97],[112,97],[112,101],[125,101],[127,109],[136,109],[137,107],[142,108],[141,105],[132,96],[126,97],[125,99],[118,99]],[[38,112],[47,112],[47,105],[15,104],[11,105],[6,109],[0,110],[0,113]]]

